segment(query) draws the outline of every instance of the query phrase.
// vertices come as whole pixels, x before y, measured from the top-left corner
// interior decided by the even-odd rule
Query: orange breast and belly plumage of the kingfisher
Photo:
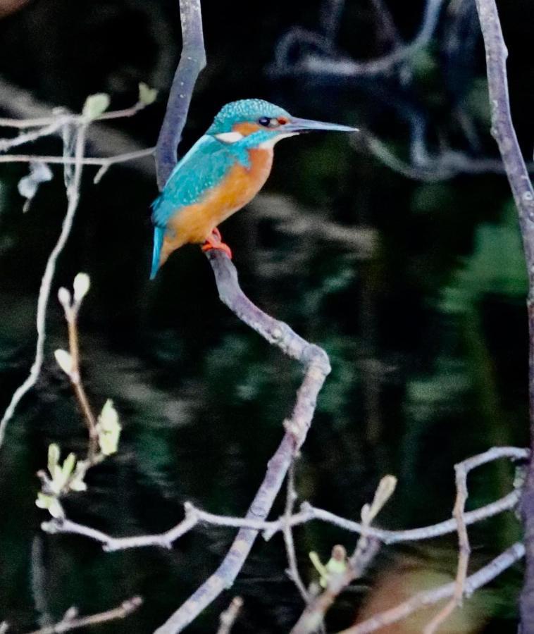
[[[249,158],[248,168],[236,163],[203,200],[181,209],[171,218],[161,249],[162,264],[182,244],[205,242],[217,225],[256,196],[271,172],[273,150],[252,149]]]

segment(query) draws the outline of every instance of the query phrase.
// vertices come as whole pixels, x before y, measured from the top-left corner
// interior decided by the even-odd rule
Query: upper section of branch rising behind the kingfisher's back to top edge
[[[197,77],[206,66],[200,0],[180,0],[182,54],[170,87],[167,110],[156,145],[156,173],[161,192],[177,161],[187,111]]]

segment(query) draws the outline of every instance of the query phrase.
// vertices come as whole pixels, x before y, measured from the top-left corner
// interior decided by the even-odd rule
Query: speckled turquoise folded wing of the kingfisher
[[[236,159],[227,145],[208,135],[200,137],[174,168],[161,196],[154,201],[154,225],[164,228],[180,208],[198,202],[223,180]]]

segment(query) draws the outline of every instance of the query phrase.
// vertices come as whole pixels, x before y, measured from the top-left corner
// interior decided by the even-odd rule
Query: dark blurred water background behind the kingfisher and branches
[[[401,16],[392,6],[406,39],[421,7],[416,3]],[[423,113],[430,144],[437,147],[447,130],[465,149],[454,127],[455,100],[461,99],[481,112],[478,151],[494,151],[485,94],[472,90],[482,77],[479,49],[463,68],[441,56],[437,40],[428,49],[430,66],[404,85],[391,77],[355,82],[268,72],[280,37],[293,25],[318,30],[328,6],[322,11],[318,2],[304,11],[297,2],[206,1],[209,67],[184,146],[225,101],[258,96],[300,116],[362,125],[390,140],[401,156],[407,156],[407,121]],[[504,25],[512,100],[528,149],[532,94],[525,89],[526,35],[518,15],[504,13]],[[374,20],[370,5],[347,4],[339,46],[355,57],[379,54]],[[87,94],[106,91],[113,107],[128,106],[139,80],[164,93],[177,29],[170,1],[35,1],[0,21],[1,73],[54,105],[80,108]],[[17,54],[8,55],[15,42]],[[153,144],[163,102],[162,96],[120,129]],[[58,144],[45,142],[38,151],[57,152]],[[197,247],[182,249],[149,282],[154,177],[135,166],[116,167],[95,186],[91,172],[54,288],[70,285],[78,271],[91,275],[80,320],[83,377],[94,408],[112,398],[124,429],[119,454],[89,474],[89,491],[66,500],[68,515],[113,535],[166,530],[180,521],[187,500],[242,515],[282,435],[300,368],[218,302]],[[39,280],[66,209],[56,171],[30,211],[21,213],[16,184],[24,174],[24,166],[0,170],[2,406],[32,362]],[[333,364],[298,464],[301,499],[358,518],[380,478],[393,473],[399,485],[381,526],[447,518],[455,462],[492,445],[527,442],[526,281],[507,183],[496,175],[408,180],[347,137],[324,135],[280,144],[264,192],[223,228],[242,286],[268,313],[321,344]],[[66,347],[55,300],[48,328],[42,375],[20,404],[0,455],[0,621],[23,632],[57,621],[73,604],[90,614],[139,594],[142,609],[101,631],[151,632],[216,568],[233,533],[199,528],[170,552],[113,554],[80,537],[42,533],[46,515],[35,506],[35,472],[46,464],[46,448],[58,442],[65,452],[81,453],[85,446],[75,399],[52,355]],[[504,495],[512,477],[500,463],[473,473],[470,507]],[[474,570],[519,537],[519,523],[507,514],[470,535]],[[318,523],[299,528],[295,538],[306,582],[316,578],[311,550],[326,560],[335,543],[354,546],[354,536]],[[378,590],[369,588],[395,578],[401,590],[414,591],[447,581],[455,545],[452,535],[383,549],[356,592],[340,598],[329,630],[352,623],[366,597],[380,607]],[[190,631],[215,631],[234,594],[244,598],[235,632],[289,630],[302,603],[284,570],[280,537],[259,540],[235,588]],[[464,629],[449,625],[449,631],[515,631],[520,587],[516,566],[471,599],[460,619]]]

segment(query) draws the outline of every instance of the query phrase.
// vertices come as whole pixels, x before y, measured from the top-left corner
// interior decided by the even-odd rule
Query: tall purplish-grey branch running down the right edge
[[[517,142],[508,95],[507,48],[495,0],[476,0],[478,18],[484,37],[488,88],[492,113],[492,135],[499,145],[511,191],[514,194],[519,225],[523,237],[528,272],[528,331],[530,403],[530,442],[534,447],[534,189]],[[534,632],[534,457],[531,456],[521,502],[526,546],[526,576],[521,595],[521,625],[523,634]]]

